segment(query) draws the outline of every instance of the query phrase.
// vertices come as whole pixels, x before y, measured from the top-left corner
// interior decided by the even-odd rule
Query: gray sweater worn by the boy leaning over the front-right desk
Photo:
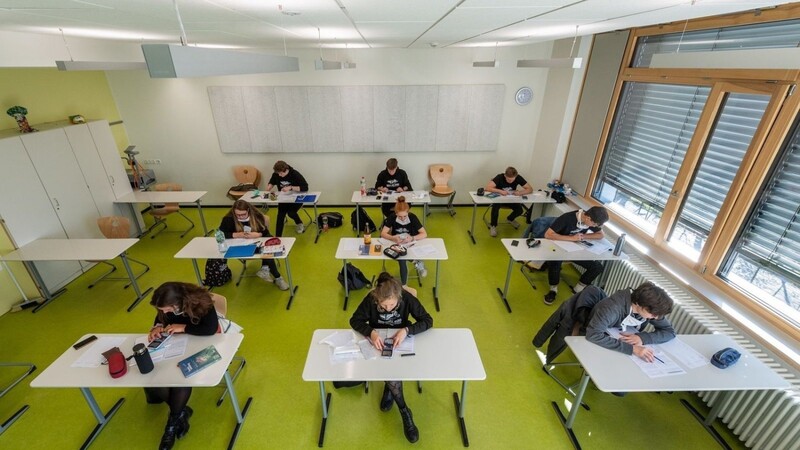
[[[610,350],[633,354],[633,346],[626,344],[619,339],[613,338],[606,333],[609,328],[619,328],[622,321],[631,311],[631,290],[622,289],[611,296],[603,299],[592,309],[589,318],[589,325],[586,327],[586,339],[590,342],[605,347]],[[642,344],[660,344],[667,342],[675,337],[675,330],[667,318],[646,320],[639,330],[643,330],[647,324],[653,325],[655,330],[652,333],[640,331]]]

